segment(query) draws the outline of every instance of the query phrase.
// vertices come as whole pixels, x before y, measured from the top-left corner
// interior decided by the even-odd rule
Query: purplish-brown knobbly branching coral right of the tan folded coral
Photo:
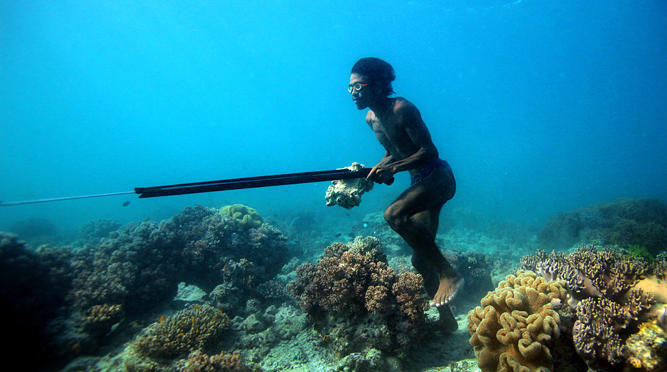
[[[591,371],[620,370],[631,364],[623,345],[637,325],[659,319],[666,312],[667,286],[652,266],[618,249],[581,245],[569,254],[538,251],[525,256],[526,269],[548,280],[560,279],[568,288],[568,303],[575,308],[572,340]]]

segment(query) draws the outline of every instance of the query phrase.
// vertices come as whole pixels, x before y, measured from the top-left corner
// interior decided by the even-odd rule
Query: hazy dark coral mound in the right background
[[[626,198],[562,212],[549,219],[538,239],[546,249],[601,240],[605,245],[640,245],[655,256],[667,249],[667,203]]]

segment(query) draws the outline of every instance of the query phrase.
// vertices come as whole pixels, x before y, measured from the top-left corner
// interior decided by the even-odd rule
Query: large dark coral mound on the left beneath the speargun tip
[[[89,243],[76,249],[42,245],[32,251],[16,236],[1,237],[0,295],[10,304],[4,311],[22,328],[16,334],[31,340],[25,345],[38,343],[32,349],[39,355],[44,350],[41,360],[95,353],[114,338],[118,324],[173,299],[181,282],[206,292],[227,288],[233,295],[213,301],[225,310],[242,312],[251,298],[285,298],[284,282],[275,277],[286,261],[286,239],[268,224],[249,227],[195,206],[160,224],[112,232],[113,223],[86,226],[82,238]],[[108,235],[101,238],[103,231]],[[53,332],[58,347],[49,346],[43,330]]]

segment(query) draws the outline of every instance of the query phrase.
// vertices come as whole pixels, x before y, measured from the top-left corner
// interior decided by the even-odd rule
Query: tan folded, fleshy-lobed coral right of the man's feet
[[[554,310],[566,298],[560,281],[532,271],[508,275],[468,313],[470,345],[482,371],[553,371],[549,343],[559,336]]]

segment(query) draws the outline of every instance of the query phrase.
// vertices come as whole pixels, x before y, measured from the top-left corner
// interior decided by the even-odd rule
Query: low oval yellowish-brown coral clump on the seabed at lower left
[[[190,306],[153,323],[125,348],[130,371],[173,371],[193,351],[207,352],[218,343],[231,321],[211,306]]]

